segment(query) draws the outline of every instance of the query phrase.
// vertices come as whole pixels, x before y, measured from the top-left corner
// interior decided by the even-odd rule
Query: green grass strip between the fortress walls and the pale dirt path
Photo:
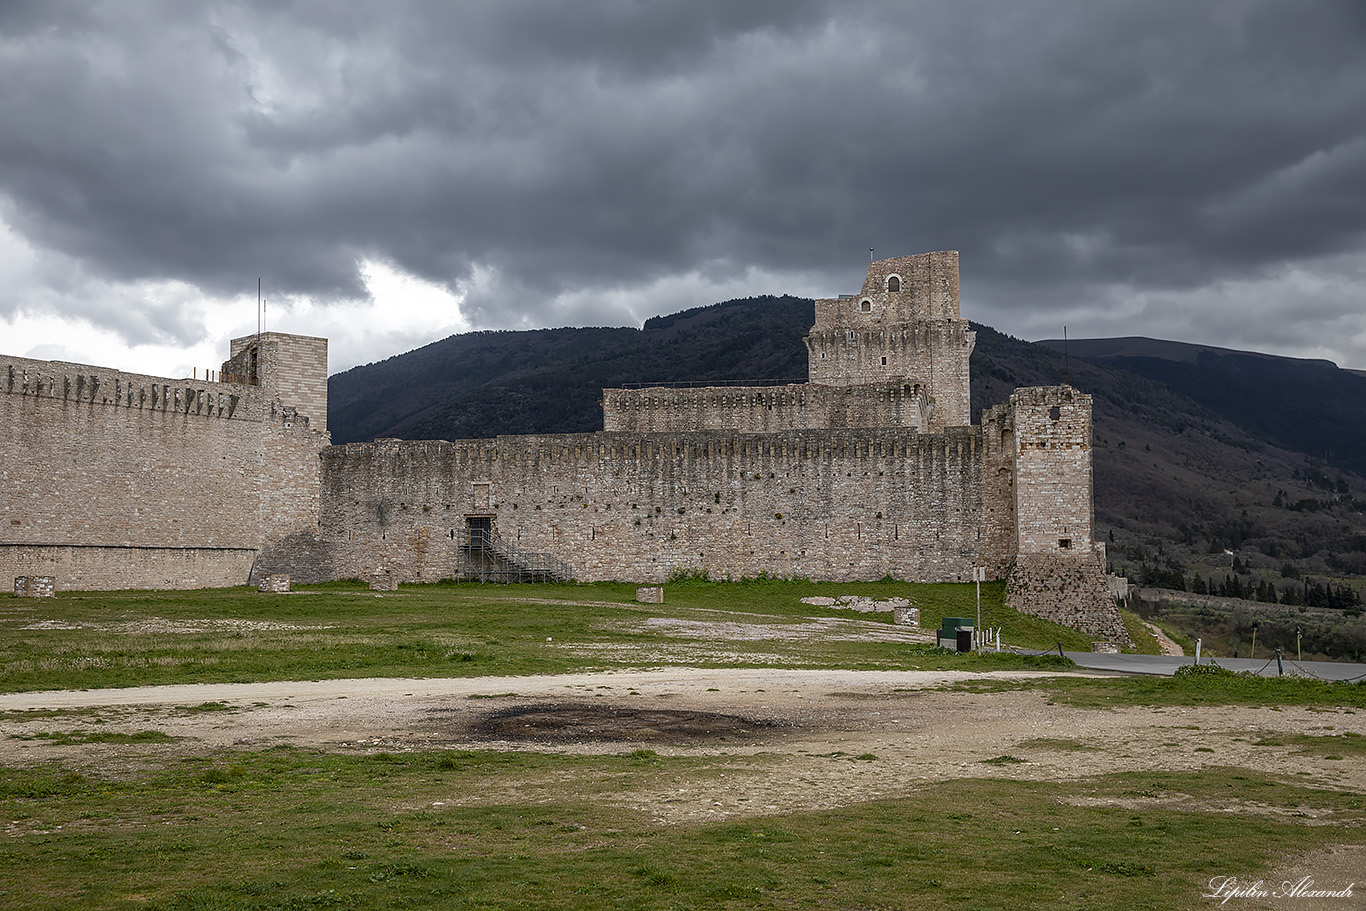
[[[664,605],[637,604],[635,587],[620,583],[429,585],[384,595],[359,583],[332,583],[275,595],[205,589],[63,593],[42,601],[11,597],[0,598],[0,691],[663,665],[984,671],[1040,665],[1008,656],[968,658],[896,642],[796,635],[720,647],[701,635],[664,635],[642,626],[664,617],[796,632],[821,616],[891,623],[891,613],[800,601],[840,594],[908,597],[929,630],[943,616],[975,617],[977,611],[970,585],[891,582],[694,580],[668,586]],[[1003,627],[1008,643],[1090,647],[1083,634],[1016,613],[1003,600],[1001,583],[982,586],[982,624]]]

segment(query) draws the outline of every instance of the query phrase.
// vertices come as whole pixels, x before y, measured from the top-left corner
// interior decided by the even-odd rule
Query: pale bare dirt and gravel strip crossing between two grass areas
[[[1130,769],[1236,765],[1366,789],[1362,763],[1255,746],[1279,733],[1366,735],[1366,714],[1240,706],[1078,709],[1052,705],[1037,690],[944,690],[982,676],[667,668],[7,694],[0,695],[0,762],[60,759],[119,768],[161,755],[291,743],[362,753],[622,753],[643,746],[667,755],[725,757],[738,766],[706,800],[663,789],[622,795],[623,803],[661,822],[832,807],[955,777],[1065,780]],[[512,724],[507,716],[525,717]],[[503,727],[493,725],[499,718]],[[160,731],[178,739],[130,748],[33,738],[40,731],[92,729]]]

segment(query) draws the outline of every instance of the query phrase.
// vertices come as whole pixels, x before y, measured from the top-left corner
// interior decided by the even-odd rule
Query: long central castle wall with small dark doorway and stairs
[[[974,429],[594,433],[380,441],[322,453],[336,576],[449,576],[469,516],[575,576],[966,580],[981,552]]]

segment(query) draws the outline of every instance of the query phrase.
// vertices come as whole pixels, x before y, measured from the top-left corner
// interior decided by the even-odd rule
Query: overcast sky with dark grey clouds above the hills
[[[1361,0],[0,1],[0,351],[855,292],[1366,367]]]

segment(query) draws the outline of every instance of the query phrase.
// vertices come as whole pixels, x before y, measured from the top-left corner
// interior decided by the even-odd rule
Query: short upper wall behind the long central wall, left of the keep
[[[604,389],[602,429],[627,433],[921,430],[928,406],[922,388],[902,382]]]

